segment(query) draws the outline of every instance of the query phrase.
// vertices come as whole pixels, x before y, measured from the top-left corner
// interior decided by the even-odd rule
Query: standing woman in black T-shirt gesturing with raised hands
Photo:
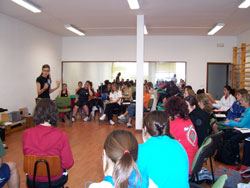
[[[50,93],[54,92],[60,86],[60,81],[56,81],[56,87],[51,89],[51,77],[50,77],[50,66],[48,64],[43,65],[42,73],[36,79],[37,95],[38,98],[50,98]]]

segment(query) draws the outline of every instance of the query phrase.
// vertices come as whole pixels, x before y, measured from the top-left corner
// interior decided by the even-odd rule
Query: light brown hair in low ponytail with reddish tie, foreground
[[[135,162],[138,155],[138,142],[131,132],[126,130],[112,131],[105,140],[104,150],[115,163],[112,174],[114,187],[127,188],[128,179],[133,170],[136,171],[136,176],[141,179]]]

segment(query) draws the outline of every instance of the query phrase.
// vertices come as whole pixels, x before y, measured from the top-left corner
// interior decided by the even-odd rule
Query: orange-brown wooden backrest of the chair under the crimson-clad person
[[[46,160],[49,164],[50,176],[57,176],[61,173],[61,160],[59,156],[35,156],[25,155],[24,156],[24,172],[33,175],[35,162],[38,160]],[[38,163],[37,165],[37,176],[47,176],[47,168],[45,163]]]

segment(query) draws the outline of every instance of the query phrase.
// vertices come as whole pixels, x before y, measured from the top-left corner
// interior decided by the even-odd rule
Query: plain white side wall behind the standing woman
[[[0,25],[0,107],[32,112],[42,65],[51,66],[52,86],[61,78],[61,37],[3,14]]]

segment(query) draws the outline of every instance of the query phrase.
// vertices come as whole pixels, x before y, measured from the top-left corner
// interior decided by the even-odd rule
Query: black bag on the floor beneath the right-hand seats
[[[221,147],[218,149],[215,158],[216,161],[224,164],[233,165],[236,160],[236,153],[232,149],[230,140],[224,140]]]

